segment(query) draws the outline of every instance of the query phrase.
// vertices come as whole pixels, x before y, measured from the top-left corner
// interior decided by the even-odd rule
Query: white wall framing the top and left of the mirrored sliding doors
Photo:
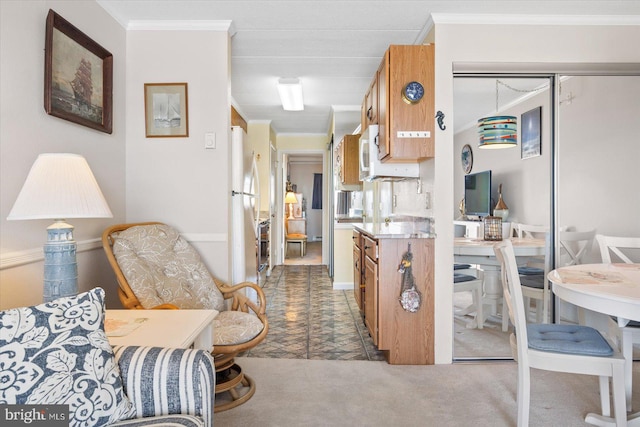
[[[471,18],[471,17],[466,17]],[[473,19],[481,19],[475,16]],[[490,25],[456,24],[450,16],[434,16],[436,44],[436,110],[447,117],[453,112],[453,75],[455,63],[640,63],[640,26],[610,25],[539,25],[519,23],[501,17],[487,21]],[[463,22],[459,20],[458,22]],[[505,36],[507,35],[507,36]],[[472,41],[472,42],[471,42]],[[500,46],[499,49],[479,49],[478,46]],[[445,121],[445,124],[446,121]],[[434,217],[436,221],[435,257],[435,358],[436,363],[450,363],[452,358],[452,292],[451,264],[453,263],[454,153],[453,127],[436,130],[436,161],[425,162],[421,172],[433,176]]]

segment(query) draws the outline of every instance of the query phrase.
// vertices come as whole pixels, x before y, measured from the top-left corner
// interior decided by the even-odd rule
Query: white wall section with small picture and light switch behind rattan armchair
[[[158,27],[156,27],[158,28]],[[226,30],[127,35],[127,221],[161,221],[191,240],[222,280],[229,274],[230,94]],[[188,84],[189,137],[146,138],[144,84]],[[216,148],[204,147],[204,134]]]

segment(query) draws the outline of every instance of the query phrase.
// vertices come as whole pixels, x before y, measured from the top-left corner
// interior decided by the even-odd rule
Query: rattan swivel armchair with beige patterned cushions
[[[262,342],[269,330],[266,298],[255,283],[230,286],[215,279],[197,251],[172,227],[159,222],[119,224],[102,234],[118,295],[130,309],[214,309],[216,405],[214,412],[253,396],[255,383],[234,358]],[[247,296],[255,294],[257,301]]]

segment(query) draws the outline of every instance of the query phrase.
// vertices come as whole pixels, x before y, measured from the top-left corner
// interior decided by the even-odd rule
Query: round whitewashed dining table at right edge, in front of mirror
[[[619,326],[640,322],[640,264],[572,265],[549,272],[547,278],[554,294],[564,301],[615,316]],[[627,423],[640,426],[640,412],[628,415]]]

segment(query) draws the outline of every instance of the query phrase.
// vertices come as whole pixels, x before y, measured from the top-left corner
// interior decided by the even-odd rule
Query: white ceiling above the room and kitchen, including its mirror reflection
[[[140,21],[232,21],[234,105],[246,120],[270,120],[278,134],[327,134],[334,112],[336,134],[351,133],[384,51],[420,43],[431,13],[640,15],[639,0],[97,1],[125,28]],[[282,77],[302,81],[304,111],[282,110],[276,89]],[[487,112],[487,101],[477,107],[478,100],[495,109],[495,80],[474,80],[456,84],[456,128]]]

